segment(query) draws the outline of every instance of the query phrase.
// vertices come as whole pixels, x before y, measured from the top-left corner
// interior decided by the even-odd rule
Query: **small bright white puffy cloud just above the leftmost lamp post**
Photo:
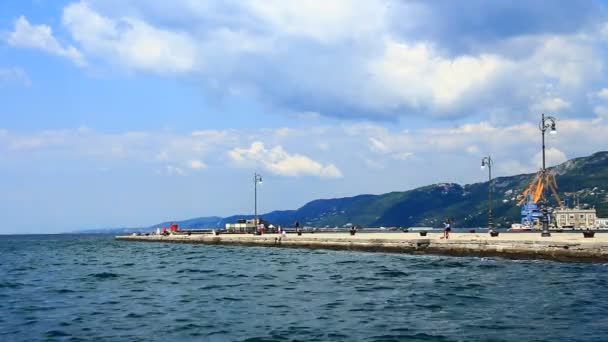
[[[307,156],[288,153],[281,145],[266,149],[264,143],[255,141],[249,148],[235,148],[228,155],[239,164],[261,163],[266,170],[281,176],[342,177],[335,165],[323,165]]]

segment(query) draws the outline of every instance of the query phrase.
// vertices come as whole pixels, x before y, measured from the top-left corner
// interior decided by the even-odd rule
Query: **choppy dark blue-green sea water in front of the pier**
[[[600,341],[608,265],[0,236],[0,341]]]

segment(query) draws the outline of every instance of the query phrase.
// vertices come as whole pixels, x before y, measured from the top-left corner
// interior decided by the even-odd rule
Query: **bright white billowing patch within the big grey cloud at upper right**
[[[497,55],[446,58],[428,43],[407,44],[388,39],[383,56],[369,64],[373,81],[385,94],[377,96],[374,106],[386,109],[430,106],[444,111],[511,67],[511,62]]]

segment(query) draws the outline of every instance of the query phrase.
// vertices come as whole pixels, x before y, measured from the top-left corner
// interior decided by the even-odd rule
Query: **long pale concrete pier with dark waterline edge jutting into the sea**
[[[123,241],[201,243],[245,246],[296,247],[381,251],[396,253],[443,254],[462,256],[500,256],[517,259],[551,259],[558,261],[608,262],[608,234],[584,238],[582,232],[552,233],[541,237],[539,232],[503,233],[304,233],[288,234],[196,234],[196,235],[123,235]]]

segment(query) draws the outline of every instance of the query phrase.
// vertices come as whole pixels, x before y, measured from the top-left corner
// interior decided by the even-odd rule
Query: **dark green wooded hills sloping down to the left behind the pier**
[[[570,205],[574,201],[595,207],[598,217],[608,217],[608,151],[576,158],[550,168],[556,173],[558,191]],[[534,174],[494,179],[493,213],[499,227],[520,220],[517,206],[521,193]],[[552,196],[550,203],[555,204]],[[260,215],[275,225],[291,226],[295,221],[314,227],[439,227],[446,217],[456,227],[487,226],[488,182],[459,185],[440,183],[382,195],[318,199],[297,210],[273,211]],[[223,227],[225,223],[252,215],[200,217],[176,221],[181,228]],[[168,226],[169,223],[154,225]],[[153,227],[149,227],[152,229]]]

